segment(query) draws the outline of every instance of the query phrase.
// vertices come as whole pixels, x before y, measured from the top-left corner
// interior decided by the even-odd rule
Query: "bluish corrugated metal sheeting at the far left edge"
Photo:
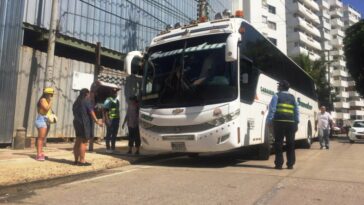
[[[10,143],[13,136],[23,3],[23,0],[0,1],[0,143]]]

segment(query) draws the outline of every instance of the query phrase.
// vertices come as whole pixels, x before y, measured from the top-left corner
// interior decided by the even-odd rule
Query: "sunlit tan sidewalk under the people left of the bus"
[[[48,159],[35,161],[35,149],[0,149],[0,189],[11,185],[24,184],[47,179],[97,172],[105,169],[126,166],[137,160],[151,158],[163,153],[145,151],[140,155],[126,154],[127,141],[118,141],[116,152],[106,154],[105,143],[95,143],[94,152],[86,153],[86,161],[92,165],[73,165],[73,143],[48,143],[44,152]]]

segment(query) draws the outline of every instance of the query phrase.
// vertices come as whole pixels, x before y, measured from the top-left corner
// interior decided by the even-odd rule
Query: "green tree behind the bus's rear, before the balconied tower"
[[[333,96],[331,95],[330,102],[330,86],[326,78],[326,64],[324,59],[312,61],[308,55],[298,55],[293,60],[308,73],[316,84],[317,97],[319,106],[324,105],[329,110],[332,110]]]

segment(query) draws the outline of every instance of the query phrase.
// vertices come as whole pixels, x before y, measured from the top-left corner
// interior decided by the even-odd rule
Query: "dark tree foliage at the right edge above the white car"
[[[364,20],[345,31],[344,52],[346,67],[355,81],[356,90],[364,96]]]

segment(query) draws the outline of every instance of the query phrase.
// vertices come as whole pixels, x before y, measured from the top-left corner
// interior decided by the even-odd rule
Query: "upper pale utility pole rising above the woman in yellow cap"
[[[58,0],[53,0],[51,11],[51,23],[49,25],[49,38],[47,50],[47,63],[45,70],[44,87],[53,86],[54,50],[56,47],[56,32],[58,21]]]

